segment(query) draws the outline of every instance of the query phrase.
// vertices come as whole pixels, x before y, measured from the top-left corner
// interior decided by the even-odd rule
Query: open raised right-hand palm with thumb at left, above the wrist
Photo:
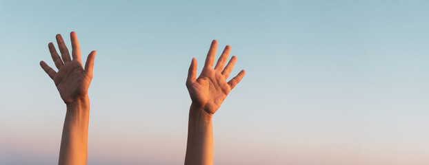
[[[237,57],[232,56],[228,65],[224,68],[231,50],[231,47],[227,45],[222,55],[219,57],[215,69],[213,69],[216,49],[217,41],[213,40],[207,54],[203,71],[197,79],[197,60],[192,58],[188,79],[186,80],[186,87],[188,87],[192,105],[204,109],[210,115],[219,109],[223,100],[228,96],[228,93],[240,82],[241,78],[243,78],[246,73],[244,70],[241,70],[237,76],[227,83],[226,79],[230,76],[235,61],[237,61]]]

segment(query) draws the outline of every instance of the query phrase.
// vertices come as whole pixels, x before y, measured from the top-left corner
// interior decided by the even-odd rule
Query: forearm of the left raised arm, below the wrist
[[[67,104],[59,151],[59,164],[86,164],[89,116],[90,101],[88,96]]]

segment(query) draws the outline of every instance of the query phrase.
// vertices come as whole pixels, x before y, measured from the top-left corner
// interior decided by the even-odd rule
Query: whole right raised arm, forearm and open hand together
[[[213,164],[213,132],[212,115],[219,109],[230,91],[240,82],[246,73],[241,70],[237,76],[229,80],[237,57],[232,56],[225,66],[231,47],[227,45],[219,57],[215,69],[217,41],[212,41],[206,63],[197,78],[197,60],[192,58],[188,71],[186,87],[192,104],[189,111],[188,144],[186,146],[185,164]]]

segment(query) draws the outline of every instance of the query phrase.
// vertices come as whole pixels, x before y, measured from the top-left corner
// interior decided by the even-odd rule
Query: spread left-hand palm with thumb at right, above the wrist
[[[88,55],[85,68],[82,66],[81,50],[77,41],[76,33],[70,33],[72,41],[72,58],[60,34],[57,34],[57,43],[61,57],[55,50],[54,44],[49,43],[49,51],[52,60],[58,69],[58,73],[49,67],[44,61],[40,62],[40,66],[54,80],[55,85],[61,95],[61,98],[66,104],[71,104],[74,100],[79,100],[87,95],[88,87],[92,80],[92,67],[94,66],[95,51]]]

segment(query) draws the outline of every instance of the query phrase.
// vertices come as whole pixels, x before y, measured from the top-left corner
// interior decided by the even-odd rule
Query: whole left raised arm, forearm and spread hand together
[[[70,58],[61,35],[57,34],[56,38],[61,57],[53,43],[49,43],[48,47],[58,72],[55,72],[44,61],[40,62],[40,66],[54,80],[67,107],[58,164],[86,164],[90,115],[88,87],[92,80],[95,51],[88,55],[85,67],[83,67],[76,33],[70,33],[72,58]]]

